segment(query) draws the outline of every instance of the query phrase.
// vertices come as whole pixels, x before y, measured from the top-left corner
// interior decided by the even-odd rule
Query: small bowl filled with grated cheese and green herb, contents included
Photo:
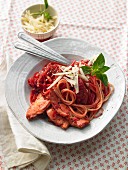
[[[45,4],[35,4],[25,9],[21,15],[23,30],[33,38],[44,41],[53,36],[59,26],[57,10]]]

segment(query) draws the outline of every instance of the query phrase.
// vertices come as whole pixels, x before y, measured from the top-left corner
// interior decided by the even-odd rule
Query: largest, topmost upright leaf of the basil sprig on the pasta
[[[101,53],[97,57],[97,59],[94,61],[92,68],[93,68],[93,70],[97,70],[99,68],[102,68],[104,65],[105,65],[105,58],[104,58],[103,54]]]

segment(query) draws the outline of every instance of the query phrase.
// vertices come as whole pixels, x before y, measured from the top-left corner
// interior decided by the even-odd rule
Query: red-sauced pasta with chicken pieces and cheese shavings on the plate
[[[38,96],[41,94],[44,101],[50,102],[49,106],[42,102],[43,114],[47,113],[49,120],[63,129],[69,126],[83,128],[92,119],[99,117],[103,113],[103,103],[110,98],[114,87],[110,83],[105,86],[95,75],[85,75],[81,66],[88,66],[90,63],[89,60],[74,61],[66,67],[51,62],[35,73],[28,79],[32,90],[31,105],[26,116],[33,113],[33,105],[36,110]],[[38,110],[38,114],[42,114],[42,110]],[[33,115],[27,118],[36,116]]]

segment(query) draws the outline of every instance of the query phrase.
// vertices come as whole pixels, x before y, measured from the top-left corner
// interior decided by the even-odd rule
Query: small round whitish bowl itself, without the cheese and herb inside
[[[27,9],[25,9],[21,15],[21,17],[26,13],[26,11],[30,11],[30,13],[35,13],[35,12],[38,12],[40,10],[40,6],[41,8],[44,7],[44,4],[35,4],[35,5],[32,5],[32,6],[29,6]],[[50,13],[51,16],[57,16],[57,19],[55,21],[55,27],[50,30],[50,31],[47,31],[45,33],[32,33],[28,30],[26,30],[24,27],[23,27],[23,23],[22,23],[22,20],[21,20],[21,25],[22,25],[22,28],[23,30],[30,36],[32,36],[33,38],[39,40],[39,41],[44,41],[44,40],[47,40],[49,38],[51,38],[53,36],[53,34],[55,33],[55,31],[57,30],[58,26],[59,26],[59,15],[58,15],[58,12],[57,10],[52,7],[51,5],[49,5],[48,9],[47,9],[47,12]]]

